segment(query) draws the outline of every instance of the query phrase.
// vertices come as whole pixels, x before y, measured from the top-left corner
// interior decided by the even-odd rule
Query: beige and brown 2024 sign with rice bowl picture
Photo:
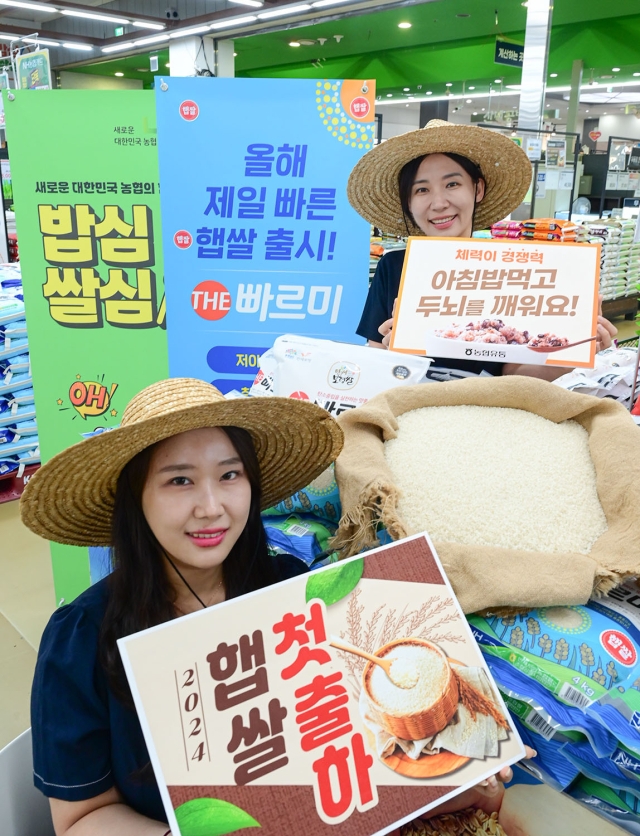
[[[425,535],[119,646],[175,836],[389,833],[524,754]]]

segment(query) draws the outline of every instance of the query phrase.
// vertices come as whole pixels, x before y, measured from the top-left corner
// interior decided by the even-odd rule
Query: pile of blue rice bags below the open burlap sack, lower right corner
[[[640,586],[469,623],[539,777],[640,834]]]

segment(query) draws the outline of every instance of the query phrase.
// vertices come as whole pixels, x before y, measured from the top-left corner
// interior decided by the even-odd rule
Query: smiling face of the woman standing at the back
[[[483,180],[476,186],[450,157],[429,154],[413,181],[409,209],[425,235],[470,238],[474,200],[479,203],[483,197]]]

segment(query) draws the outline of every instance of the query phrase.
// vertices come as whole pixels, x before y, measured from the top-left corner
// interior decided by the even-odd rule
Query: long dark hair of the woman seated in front
[[[249,518],[222,565],[227,598],[261,589],[277,580],[267,551],[260,516],[260,465],[251,436],[239,427],[220,427],[236,449],[251,485]],[[154,445],[155,446],[155,445]],[[113,692],[132,705],[117,640],[175,618],[175,590],[164,552],[142,512],[142,491],[154,446],[138,453],[124,468],[116,487],[111,542],[114,571],[102,621],[99,658]]]

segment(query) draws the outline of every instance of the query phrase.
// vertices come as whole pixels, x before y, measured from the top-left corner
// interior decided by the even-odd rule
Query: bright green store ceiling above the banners
[[[401,22],[411,23],[411,28],[400,29]],[[478,93],[488,92],[489,85],[506,92],[507,85],[520,81],[520,70],[494,63],[495,38],[504,36],[522,43],[525,23],[526,8],[520,0],[435,0],[346,17],[336,12],[335,19],[311,26],[289,24],[277,32],[236,36],[236,75],[375,78],[383,101],[423,96],[428,90],[433,96],[443,95],[447,89],[466,94],[469,86]],[[303,45],[292,47],[292,41]],[[313,43],[304,45],[304,41]],[[637,81],[633,73],[640,72],[638,43],[638,0],[617,0],[615,6],[601,0],[557,0],[549,58],[549,73],[557,73],[557,77],[549,78],[548,84],[570,84],[576,58],[585,63],[585,83],[591,68],[601,83],[606,83],[601,75],[610,75],[609,83]],[[168,50],[158,54],[160,73],[166,72]],[[620,72],[612,73],[613,66]],[[154,77],[148,55],[67,68],[101,75],[123,72],[126,77],[142,79],[145,86],[150,86]],[[497,79],[501,85],[496,84]],[[447,82],[453,87],[446,88]]]

